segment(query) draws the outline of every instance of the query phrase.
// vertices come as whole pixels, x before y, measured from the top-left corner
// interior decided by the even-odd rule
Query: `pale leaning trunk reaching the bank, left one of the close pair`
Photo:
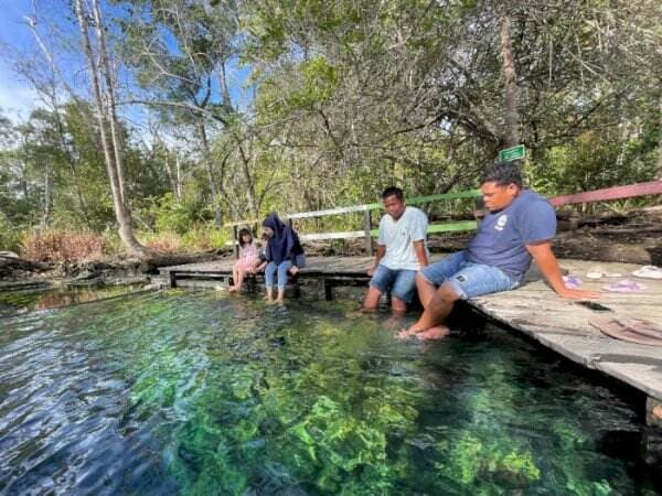
[[[140,242],[138,242],[138,239],[136,239],[136,236],[134,234],[134,228],[131,226],[131,216],[122,201],[119,176],[117,173],[116,163],[114,162],[114,158],[110,152],[110,143],[108,143],[106,122],[108,116],[104,108],[98,67],[96,65],[94,52],[92,50],[92,43],[89,41],[87,12],[85,12],[83,9],[82,0],[76,0],[75,10],[76,17],[78,19],[81,40],[83,42],[83,48],[85,51],[85,56],[87,58],[87,65],[89,68],[96,120],[99,127],[102,149],[104,151],[104,161],[106,162],[106,171],[110,181],[110,192],[113,194],[113,208],[115,211],[115,217],[117,219],[117,223],[119,224],[119,237],[121,238],[130,255],[143,258],[149,254],[148,250],[142,245],[140,245]]]

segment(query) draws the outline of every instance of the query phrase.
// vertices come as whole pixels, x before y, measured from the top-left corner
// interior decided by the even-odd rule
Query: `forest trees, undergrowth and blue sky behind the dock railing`
[[[0,250],[28,258],[207,250],[270,211],[474,188],[517,143],[545,195],[662,180],[659,0],[23,3],[2,76],[36,105],[0,111]]]

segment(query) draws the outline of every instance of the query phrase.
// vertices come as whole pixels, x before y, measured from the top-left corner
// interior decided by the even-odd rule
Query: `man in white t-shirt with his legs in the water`
[[[367,269],[372,276],[363,301],[363,312],[374,312],[380,296],[391,291],[393,313],[403,314],[412,303],[416,273],[428,265],[426,233],[428,219],[418,208],[407,206],[399,187],[388,187],[382,194],[386,215],[380,220],[380,239],[375,263]]]

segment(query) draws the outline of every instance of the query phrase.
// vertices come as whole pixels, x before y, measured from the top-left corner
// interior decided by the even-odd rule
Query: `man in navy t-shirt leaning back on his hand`
[[[565,287],[552,251],[556,213],[542,196],[522,187],[522,174],[513,162],[492,165],[482,185],[485,215],[477,235],[463,251],[421,269],[416,277],[425,311],[401,337],[434,339],[448,334],[444,321],[455,302],[517,288],[532,258],[556,293],[581,300],[598,298],[592,291]]]

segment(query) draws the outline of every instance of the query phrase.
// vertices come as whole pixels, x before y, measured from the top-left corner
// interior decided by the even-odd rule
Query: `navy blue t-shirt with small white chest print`
[[[547,241],[555,235],[554,207],[541,195],[524,190],[504,209],[485,215],[467,248],[467,260],[496,267],[521,279],[531,267],[525,245]]]

